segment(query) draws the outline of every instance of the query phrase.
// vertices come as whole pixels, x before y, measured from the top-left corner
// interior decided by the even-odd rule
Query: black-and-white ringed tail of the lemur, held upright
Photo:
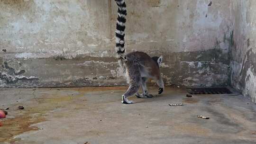
[[[119,59],[126,59],[125,57],[125,22],[127,15],[126,4],[124,0],[115,0],[118,5],[118,18],[116,29],[116,53]]]

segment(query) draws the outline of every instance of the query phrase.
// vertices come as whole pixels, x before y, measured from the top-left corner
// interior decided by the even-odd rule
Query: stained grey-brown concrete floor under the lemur
[[[186,98],[185,90],[166,88],[123,105],[125,90],[0,89],[0,108],[10,107],[0,144],[256,144],[256,105],[241,95]]]

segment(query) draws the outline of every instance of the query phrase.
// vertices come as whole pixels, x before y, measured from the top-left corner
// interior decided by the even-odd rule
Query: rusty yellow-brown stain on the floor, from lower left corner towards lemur
[[[126,90],[126,87],[56,88],[50,89],[49,91],[55,92],[50,92],[49,95],[46,95],[45,92],[39,94],[41,96],[33,99],[33,105],[24,106],[25,109],[20,110],[19,113],[17,112],[18,110],[10,111],[13,113],[18,113],[15,118],[6,118],[1,120],[3,126],[0,127],[0,142],[14,143],[19,140],[14,138],[15,135],[28,131],[39,130],[38,127],[31,125],[46,121],[47,119],[45,118],[45,115],[47,115],[50,111],[57,108],[67,107],[68,103],[72,103],[81,98],[81,101],[76,101],[76,105],[73,109],[78,110],[86,108],[85,103],[87,102],[87,99],[83,98],[86,93],[107,90]],[[67,92],[69,93],[67,94]],[[38,95],[37,92],[34,92],[33,94]],[[18,105],[13,107],[18,107]],[[65,116],[65,113],[52,115],[53,117],[61,118]]]

